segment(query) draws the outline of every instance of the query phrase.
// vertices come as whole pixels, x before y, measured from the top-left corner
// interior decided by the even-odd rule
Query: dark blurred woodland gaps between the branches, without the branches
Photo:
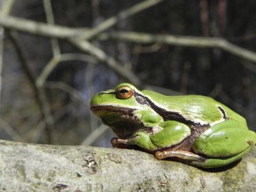
[[[139,2],[142,1],[51,1],[55,24],[70,28],[93,28]],[[163,1],[119,20],[106,32],[218,37],[256,52],[255,6],[256,1],[252,0]],[[47,22],[44,1],[15,1],[10,15]],[[52,59],[51,38],[18,33],[20,47],[36,78]],[[3,42],[0,138],[49,143],[47,122],[7,30]],[[256,67],[252,61],[218,48],[140,44],[97,37],[90,42],[115,58],[125,72],[136,74],[145,85],[213,97],[243,115],[250,129],[256,130]],[[62,54],[83,54],[67,40],[58,40],[58,47]],[[104,62],[71,60],[61,61],[47,81],[59,83],[44,86],[54,125],[51,143],[79,145],[91,137],[95,139],[87,144],[109,146],[113,133],[97,128],[100,121],[90,113],[88,105],[93,94],[125,79]],[[68,92],[67,87],[74,89]]]

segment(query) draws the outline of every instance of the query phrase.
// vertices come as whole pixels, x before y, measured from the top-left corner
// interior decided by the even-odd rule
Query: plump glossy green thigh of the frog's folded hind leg
[[[255,143],[255,133],[243,129],[243,124],[227,120],[203,132],[195,141],[193,150],[209,157],[234,156]]]

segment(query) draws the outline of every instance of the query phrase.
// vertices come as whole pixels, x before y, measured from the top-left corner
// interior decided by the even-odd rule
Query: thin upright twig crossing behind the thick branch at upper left
[[[44,10],[45,10],[45,14],[46,14],[47,23],[54,25],[54,16],[53,16],[53,12],[52,12],[51,0],[44,0]],[[51,38],[51,44],[52,44],[53,55],[54,56],[59,55],[61,52],[60,52],[60,46],[58,43],[58,39]]]

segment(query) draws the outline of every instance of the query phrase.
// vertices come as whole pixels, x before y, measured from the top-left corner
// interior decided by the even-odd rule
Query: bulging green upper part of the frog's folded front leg
[[[180,122],[166,121],[159,124],[159,126],[163,127],[163,130],[150,136],[150,140],[158,148],[166,148],[180,143],[191,134],[188,125]]]

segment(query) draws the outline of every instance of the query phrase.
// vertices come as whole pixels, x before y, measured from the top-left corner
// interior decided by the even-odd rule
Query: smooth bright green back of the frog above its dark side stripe
[[[159,106],[184,116],[200,124],[216,124],[223,119],[233,119],[246,125],[243,116],[217,102],[211,97],[202,95],[162,95],[156,92],[143,91]]]

